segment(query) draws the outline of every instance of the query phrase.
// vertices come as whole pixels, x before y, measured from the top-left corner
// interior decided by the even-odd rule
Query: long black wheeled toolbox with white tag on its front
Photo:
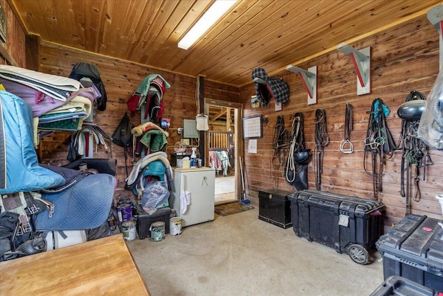
[[[311,189],[297,191],[289,200],[297,236],[349,254],[356,263],[368,263],[368,250],[383,234],[381,202]]]

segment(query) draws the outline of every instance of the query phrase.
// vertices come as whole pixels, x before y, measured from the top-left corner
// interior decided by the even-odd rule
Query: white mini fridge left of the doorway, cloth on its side
[[[213,168],[172,168],[170,204],[183,227],[214,220],[215,171]],[[183,207],[181,195],[189,193],[190,204]],[[182,214],[182,210],[186,211]]]

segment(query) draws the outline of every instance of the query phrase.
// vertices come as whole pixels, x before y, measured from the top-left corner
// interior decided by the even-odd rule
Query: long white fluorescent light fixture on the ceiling
[[[206,33],[210,26],[213,26],[218,19],[224,15],[229,8],[231,8],[237,0],[215,0],[213,5],[206,10],[204,15],[195,23],[194,26],[181,38],[179,48],[189,49],[194,42],[196,42],[201,35]]]

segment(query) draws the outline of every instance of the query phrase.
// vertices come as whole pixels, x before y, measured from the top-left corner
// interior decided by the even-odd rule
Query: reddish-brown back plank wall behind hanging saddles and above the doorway
[[[171,120],[171,128],[168,130],[170,135],[168,138],[168,153],[173,151],[174,143],[180,140],[177,128],[182,127],[183,119],[193,119],[197,114],[196,78],[194,77],[160,69],[151,69],[145,65],[116,60],[49,42],[42,42],[40,49],[40,68],[43,73],[69,76],[73,65],[77,62],[89,62],[98,67],[100,76],[105,83],[108,101],[105,111],[95,110],[94,122],[110,135],[127,111],[127,100],[132,96],[141,80],[151,73],[160,74],[171,85],[170,89],[166,89],[163,96],[163,100],[165,100],[163,116],[168,116]],[[237,87],[219,85],[210,81],[205,81],[205,96],[224,101],[239,100]],[[140,124],[140,120],[140,112],[136,112],[131,117],[133,125]],[[69,161],[66,160],[66,156],[70,141],[71,133],[69,132],[55,132],[50,137],[42,139],[39,145],[40,162],[53,165],[68,164]],[[116,145],[112,145],[112,150],[112,157],[117,159],[118,165],[118,189],[121,190],[118,194],[130,195],[129,191],[123,191],[126,177],[124,150]],[[109,149],[99,146],[98,153],[94,157],[109,158],[111,153]],[[128,165],[130,172],[132,159],[129,159]]]

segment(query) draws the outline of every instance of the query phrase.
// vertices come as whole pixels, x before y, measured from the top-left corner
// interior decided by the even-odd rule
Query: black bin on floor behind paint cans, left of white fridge
[[[151,237],[151,224],[157,221],[165,223],[165,234],[169,233],[169,220],[171,208],[164,207],[157,209],[154,214],[147,214],[140,204],[135,204],[132,208],[132,215],[137,220],[137,234],[138,238],[145,239]]]

